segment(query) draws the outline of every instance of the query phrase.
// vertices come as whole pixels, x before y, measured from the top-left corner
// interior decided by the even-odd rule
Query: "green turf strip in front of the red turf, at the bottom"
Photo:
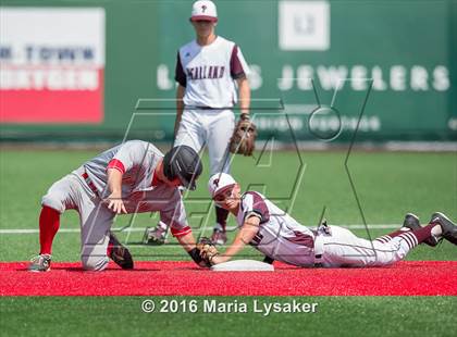
[[[141,302],[156,311],[144,313]],[[160,313],[161,301],[196,301],[198,312]],[[248,312],[209,313],[203,301],[246,303]],[[256,313],[263,303],[317,303],[311,313]],[[227,307],[227,305],[224,305]],[[433,297],[75,297],[0,300],[5,336],[454,336],[455,298]]]

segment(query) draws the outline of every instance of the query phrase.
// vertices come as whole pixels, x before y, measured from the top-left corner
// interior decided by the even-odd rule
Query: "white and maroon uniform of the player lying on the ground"
[[[403,260],[421,234],[397,230],[372,241],[339,226],[311,230],[259,192],[247,191],[236,216],[239,227],[256,216],[259,232],[250,242],[267,257],[298,266],[383,266]],[[423,238],[422,238],[423,239]]]

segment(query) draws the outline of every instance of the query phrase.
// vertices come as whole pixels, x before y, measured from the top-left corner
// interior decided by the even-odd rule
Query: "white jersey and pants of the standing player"
[[[199,152],[208,147],[210,174],[230,172],[227,146],[235,128],[235,80],[248,66],[239,48],[218,36],[209,46],[196,40],[180,48],[175,79],[185,88],[184,111],[174,146]]]

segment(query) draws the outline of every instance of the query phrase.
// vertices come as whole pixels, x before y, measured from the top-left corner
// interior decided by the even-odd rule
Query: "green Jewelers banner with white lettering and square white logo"
[[[188,15],[185,5],[178,13],[163,7],[165,17],[184,22]],[[243,7],[239,13],[234,2],[219,2],[217,33],[233,39],[249,63],[260,138],[287,142],[293,129],[298,140],[347,141],[356,130],[358,140],[444,139],[457,129],[449,43],[455,38],[446,1],[280,0]],[[184,24],[165,24],[170,35],[183,35]],[[184,38],[160,40],[157,87],[166,97],[175,91],[177,41]],[[282,108],[275,110],[277,101]]]

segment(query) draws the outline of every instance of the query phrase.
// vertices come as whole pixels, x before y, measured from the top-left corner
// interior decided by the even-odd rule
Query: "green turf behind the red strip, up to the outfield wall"
[[[40,199],[49,186],[96,155],[94,151],[0,152],[0,229],[38,228]],[[313,227],[325,210],[330,224],[400,224],[406,212],[423,222],[440,210],[457,219],[456,153],[353,152],[345,167],[345,151],[258,152],[256,158],[235,157],[232,172],[244,189],[263,192],[306,226]],[[196,235],[211,235],[214,211],[208,199],[208,158],[205,158],[198,189],[186,197],[186,211]],[[357,202],[357,199],[359,203]],[[360,209],[359,209],[360,205]],[[188,259],[176,241],[162,247],[143,246],[143,228],[155,226],[158,214],[122,215],[114,227],[137,232],[120,233],[137,260]],[[234,226],[231,216],[228,226]],[[61,228],[78,228],[75,211],[61,219]],[[355,229],[375,238],[393,229]],[[230,233],[233,237],[235,232]],[[0,234],[0,260],[24,261],[38,252],[38,234]],[[443,242],[436,249],[418,247],[409,260],[456,260],[454,247]],[[247,248],[244,254],[256,257]],[[79,260],[79,234],[59,233],[53,245],[53,261]]]

